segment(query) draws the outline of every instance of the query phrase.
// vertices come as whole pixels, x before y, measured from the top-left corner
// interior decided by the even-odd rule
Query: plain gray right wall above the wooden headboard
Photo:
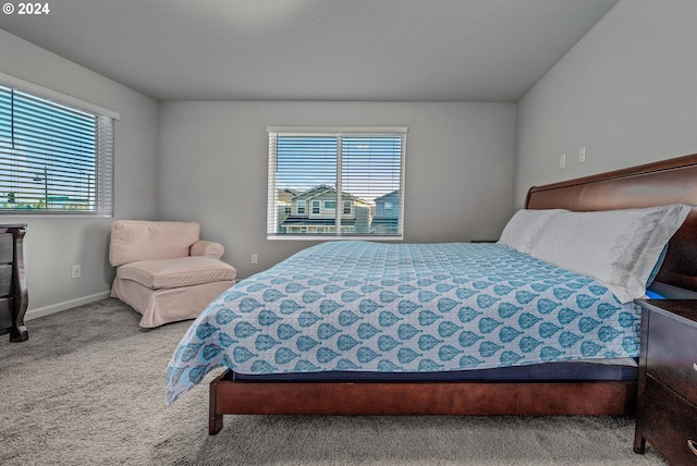
[[[533,185],[697,152],[695,17],[694,0],[622,0],[525,95],[516,208]]]

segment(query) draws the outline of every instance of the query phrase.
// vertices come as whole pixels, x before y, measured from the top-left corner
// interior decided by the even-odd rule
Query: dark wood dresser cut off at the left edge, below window
[[[24,326],[28,303],[24,274],[24,223],[0,223],[0,335],[11,342],[29,338]]]

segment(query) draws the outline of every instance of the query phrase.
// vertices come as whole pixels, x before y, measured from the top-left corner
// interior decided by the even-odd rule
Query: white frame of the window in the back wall
[[[368,241],[403,241],[404,240],[404,185],[406,179],[406,135],[408,133],[407,126],[267,126],[268,133],[268,197],[267,197],[267,240],[281,240],[281,241],[341,241],[341,240],[368,240]],[[311,233],[285,233],[280,232],[279,225],[279,206],[281,203],[278,200],[278,187],[277,187],[277,172],[276,165],[278,161],[277,142],[279,136],[317,136],[327,137],[333,136],[337,138],[342,137],[370,137],[370,136],[399,136],[401,138],[401,154],[400,154],[400,173],[399,173],[399,187],[396,191],[400,193],[399,203],[396,208],[398,213],[398,232],[394,234],[386,233],[351,233],[347,232],[346,225],[343,225],[341,218],[344,216],[352,216],[355,212],[354,203],[351,199],[346,199],[342,192],[342,149],[341,144],[338,142],[337,148],[337,198],[334,206],[341,206],[341,211],[334,207],[335,223],[327,226],[330,233],[311,234]],[[340,139],[341,140],[341,139]],[[299,200],[299,199],[298,199]],[[348,209],[346,209],[346,203],[348,203]],[[323,203],[322,203],[323,207]],[[374,209],[377,205],[374,205]],[[326,210],[326,209],[325,209]],[[322,214],[325,213],[322,210]],[[310,210],[311,211],[311,210]],[[375,210],[374,210],[375,211]],[[306,209],[307,212],[307,209]],[[304,228],[306,231],[307,228]],[[301,229],[303,230],[303,229]]]

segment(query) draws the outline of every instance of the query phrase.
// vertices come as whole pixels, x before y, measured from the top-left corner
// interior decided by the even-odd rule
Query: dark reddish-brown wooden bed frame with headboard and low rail
[[[587,211],[675,203],[697,205],[697,154],[536,186],[525,205]],[[657,281],[674,297],[697,291],[697,212],[671,240]],[[636,381],[255,382],[231,375],[210,382],[210,434],[225,414],[627,415],[637,388]]]

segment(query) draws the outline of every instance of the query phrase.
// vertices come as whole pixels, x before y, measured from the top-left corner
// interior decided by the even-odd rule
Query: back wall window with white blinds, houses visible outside
[[[406,127],[267,131],[268,238],[403,238]]]

